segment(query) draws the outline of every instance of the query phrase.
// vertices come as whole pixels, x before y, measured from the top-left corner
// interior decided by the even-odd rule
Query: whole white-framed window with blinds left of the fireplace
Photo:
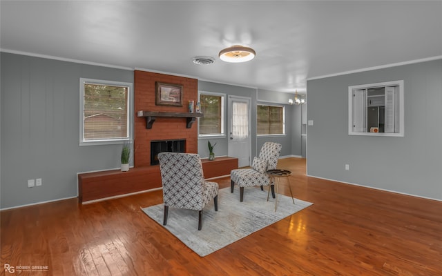
[[[81,79],[80,145],[131,139],[131,83]]]

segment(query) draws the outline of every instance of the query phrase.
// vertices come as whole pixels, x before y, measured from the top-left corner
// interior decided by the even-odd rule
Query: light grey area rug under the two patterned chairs
[[[224,246],[233,244],[276,221],[284,219],[312,203],[278,195],[278,208],[275,212],[275,199],[267,201],[267,190],[245,188],[244,201],[240,202],[239,188],[230,193],[223,188],[218,193],[218,212],[213,200],[203,210],[202,229],[198,231],[198,211],[169,208],[169,218],[164,226],[195,253],[204,257]],[[142,208],[144,213],[162,226],[164,204]]]

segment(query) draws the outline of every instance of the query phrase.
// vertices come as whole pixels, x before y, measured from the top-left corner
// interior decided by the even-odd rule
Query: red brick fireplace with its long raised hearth
[[[155,81],[182,85],[183,106],[156,106]],[[189,118],[186,118],[189,117],[188,114],[184,117],[177,117],[177,114],[182,115],[188,112],[189,101],[196,102],[198,80],[135,70],[134,86],[135,168],[131,168],[128,172],[106,170],[80,173],[78,175],[80,202],[161,188],[160,166],[151,166],[152,141],[184,140],[184,145],[172,145],[173,150],[179,148],[180,151],[198,153],[197,124],[189,124]],[[142,111],[144,117],[138,117],[139,111]],[[157,112],[167,112],[173,116],[161,117]],[[147,119],[146,114],[155,114],[157,117],[153,120]],[[192,117],[195,119],[195,115]],[[149,121],[149,128],[146,128],[147,121]],[[206,178],[229,175],[230,170],[238,168],[238,158],[217,157],[215,161],[202,160],[202,167]]]

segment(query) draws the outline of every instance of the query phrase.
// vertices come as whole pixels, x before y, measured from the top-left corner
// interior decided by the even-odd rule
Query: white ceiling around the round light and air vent
[[[442,1],[1,1],[1,50],[271,91],[442,57]],[[218,52],[249,46],[256,58]],[[197,65],[195,56],[216,59]]]

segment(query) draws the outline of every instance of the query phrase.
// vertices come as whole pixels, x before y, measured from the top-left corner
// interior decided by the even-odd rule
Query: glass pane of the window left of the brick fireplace
[[[84,83],[84,141],[128,138],[128,88]]]

